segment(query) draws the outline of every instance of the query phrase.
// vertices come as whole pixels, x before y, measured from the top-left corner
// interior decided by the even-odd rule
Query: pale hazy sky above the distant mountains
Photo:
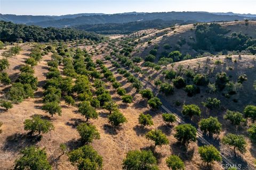
[[[63,15],[75,13],[123,13],[207,11],[256,14],[256,0],[0,0],[0,13]]]

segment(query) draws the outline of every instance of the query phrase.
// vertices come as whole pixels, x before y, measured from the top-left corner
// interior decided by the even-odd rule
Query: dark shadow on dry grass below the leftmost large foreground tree
[[[19,152],[21,149],[35,145],[42,139],[41,135],[31,135],[29,133],[14,133],[6,138],[2,150],[10,152]]]

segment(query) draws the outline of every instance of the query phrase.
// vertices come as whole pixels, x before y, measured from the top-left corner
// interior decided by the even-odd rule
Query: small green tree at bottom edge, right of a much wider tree
[[[171,155],[171,156],[167,157],[165,162],[169,168],[172,168],[172,170],[185,169],[185,164],[180,159],[180,157],[178,157],[176,155]]]

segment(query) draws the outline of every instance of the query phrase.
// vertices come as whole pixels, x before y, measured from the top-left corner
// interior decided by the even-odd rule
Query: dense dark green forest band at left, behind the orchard
[[[72,28],[42,28],[38,26],[27,26],[25,24],[14,24],[12,22],[0,21],[0,40],[5,42],[35,41],[48,42],[50,40],[76,40],[91,39],[100,41],[101,37],[94,33]]]

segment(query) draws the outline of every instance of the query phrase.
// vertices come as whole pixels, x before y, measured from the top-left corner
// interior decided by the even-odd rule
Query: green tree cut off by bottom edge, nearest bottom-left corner
[[[52,167],[47,162],[46,152],[44,149],[27,147],[21,150],[22,156],[15,160],[14,169],[23,170],[51,170]]]

